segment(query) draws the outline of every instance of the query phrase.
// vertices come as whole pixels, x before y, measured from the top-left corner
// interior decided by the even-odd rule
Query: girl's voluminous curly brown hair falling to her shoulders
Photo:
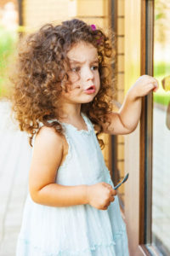
[[[99,93],[92,102],[83,103],[81,111],[94,124],[100,147],[105,147],[99,134],[103,131],[100,122],[108,122],[106,115],[112,110],[112,41],[100,29],[77,19],[57,26],[44,25],[21,40],[12,78],[12,102],[14,117],[20,130],[30,134],[30,144],[41,123],[63,134],[57,121],[57,99],[68,81],[67,53],[73,44],[81,41],[93,44],[98,50],[100,77]]]

